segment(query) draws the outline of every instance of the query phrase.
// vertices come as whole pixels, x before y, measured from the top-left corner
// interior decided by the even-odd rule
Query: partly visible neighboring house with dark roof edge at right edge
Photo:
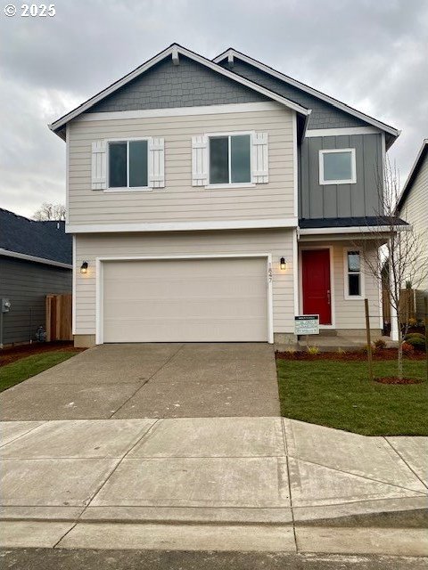
[[[424,318],[424,296],[428,295],[428,139],[425,139],[417,153],[415,164],[403,186],[398,204],[399,216],[413,227],[418,247],[424,252],[421,273],[416,276],[416,316]]]

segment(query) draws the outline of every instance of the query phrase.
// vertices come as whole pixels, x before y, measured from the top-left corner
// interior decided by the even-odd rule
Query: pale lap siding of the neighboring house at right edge
[[[400,216],[413,226],[413,232],[419,242],[418,248],[424,251],[424,263],[426,264],[426,257],[428,256],[428,155],[425,155],[424,163],[420,167],[407,199],[400,210]],[[424,264],[421,263],[422,265]],[[428,277],[422,274],[416,276],[413,286],[418,291],[428,290]],[[424,314],[424,297],[422,294],[416,295],[416,313],[419,316]]]

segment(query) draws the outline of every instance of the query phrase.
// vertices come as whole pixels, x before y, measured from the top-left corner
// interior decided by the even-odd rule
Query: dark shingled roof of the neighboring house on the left
[[[0,208],[0,256],[12,254],[71,265],[72,237],[65,222],[36,222]]]

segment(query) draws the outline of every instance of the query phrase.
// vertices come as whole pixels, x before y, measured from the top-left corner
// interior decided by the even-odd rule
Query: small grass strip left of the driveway
[[[2,366],[0,368],[0,392],[31,378],[31,376],[35,376],[39,372],[52,368],[75,354],[74,352],[64,350],[33,354],[27,358],[21,358],[21,360]]]

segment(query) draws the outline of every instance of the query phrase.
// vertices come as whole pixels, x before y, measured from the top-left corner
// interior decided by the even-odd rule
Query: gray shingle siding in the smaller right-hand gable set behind
[[[226,62],[223,64],[226,67]],[[342,128],[350,126],[366,126],[366,122],[359,118],[353,117],[342,110],[336,109],[333,105],[301,91],[297,87],[284,83],[282,79],[277,79],[254,68],[248,63],[239,61],[235,58],[235,65],[232,69],[234,73],[247,77],[254,83],[263,85],[267,89],[274,91],[277,94],[283,95],[293,102],[300,103],[303,107],[312,110],[309,117],[309,129],[314,128]]]

